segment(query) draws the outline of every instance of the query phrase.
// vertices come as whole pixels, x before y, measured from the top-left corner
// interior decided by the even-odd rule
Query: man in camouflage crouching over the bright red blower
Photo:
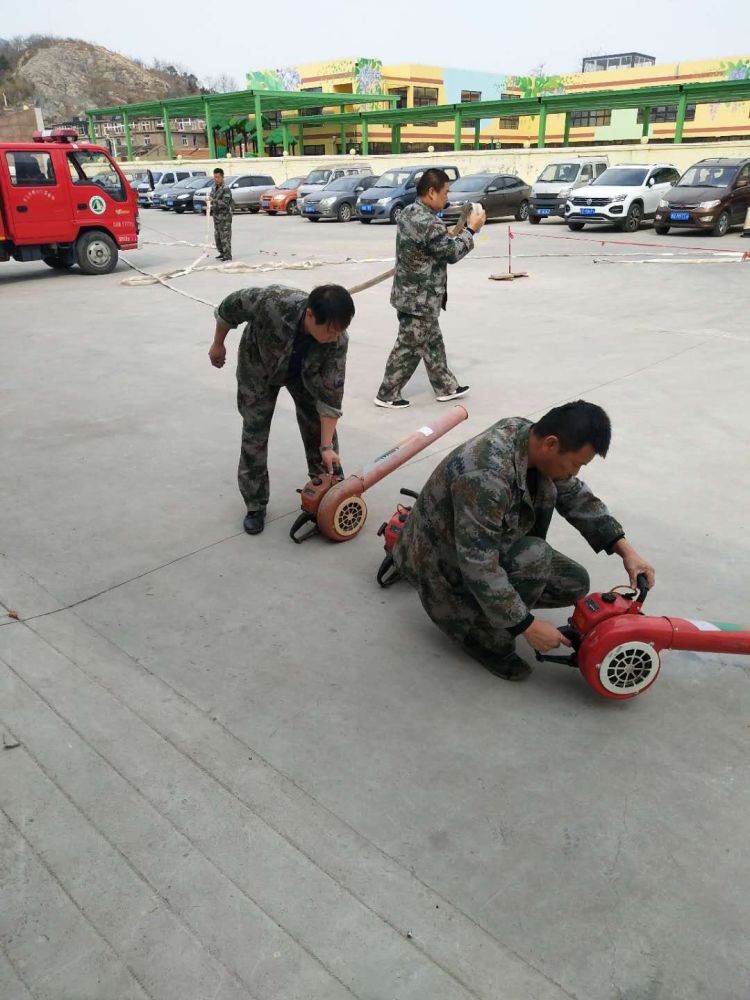
[[[569,641],[532,608],[574,604],[589,590],[583,566],[545,541],[553,511],[595,552],[619,555],[633,587],[652,566],[577,478],[611,438],[609,417],[578,400],[532,423],[500,420],[460,445],[427,480],[393,552],[435,624],[505,680],[531,672],[515,651],[523,635],[542,653]]]

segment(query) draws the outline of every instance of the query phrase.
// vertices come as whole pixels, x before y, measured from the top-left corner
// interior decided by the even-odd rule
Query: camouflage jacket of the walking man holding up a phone
[[[417,198],[398,220],[391,305],[411,316],[436,319],[447,298],[448,264],[473,249],[470,232],[449,236],[432,209]]]

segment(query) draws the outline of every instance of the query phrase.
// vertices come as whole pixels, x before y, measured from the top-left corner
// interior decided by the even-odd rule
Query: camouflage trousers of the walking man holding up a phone
[[[398,337],[385,366],[378,389],[380,399],[399,399],[404,386],[424,361],[427,377],[436,396],[455,392],[458,382],[448,367],[445,344],[437,317],[398,314]]]

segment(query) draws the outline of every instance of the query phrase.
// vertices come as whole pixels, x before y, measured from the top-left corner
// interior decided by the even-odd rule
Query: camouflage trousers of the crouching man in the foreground
[[[589,575],[579,563],[557,552],[542,538],[527,535],[502,561],[514,589],[529,608],[564,608],[588,593]],[[487,618],[474,596],[451,586],[442,573],[416,584],[422,606],[433,622],[463,645],[479,645],[501,656],[512,652],[515,637]]]

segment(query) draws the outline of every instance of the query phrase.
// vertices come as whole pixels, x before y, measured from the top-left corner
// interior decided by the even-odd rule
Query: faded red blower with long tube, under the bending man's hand
[[[311,479],[299,491],[302,513],[292,525],[290,538],[301,543],[318,531],[333,542],[347,542],[354,538],[364,527],[367,518],[367,504],[362,496],[365,490],[408,462],[443,434],[447,434],[468,416],[463,406],[453,406],[429,426],[420,427],[346,479],[331,474],[321,474]],[[313,527],[300,535],[300,528],[306,524],[312,524]]]

